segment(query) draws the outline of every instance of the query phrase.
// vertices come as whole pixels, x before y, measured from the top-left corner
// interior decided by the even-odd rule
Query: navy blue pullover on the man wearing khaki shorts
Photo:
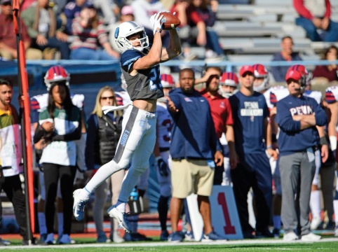
[[[215,132],[208,100],[194,91],[182,92],[180,88],[170,91],[170,99],[178,112],[171,112],[173,128],[171,130],[170,155],[173,159],[213,160],[215,151],[221,151]]]

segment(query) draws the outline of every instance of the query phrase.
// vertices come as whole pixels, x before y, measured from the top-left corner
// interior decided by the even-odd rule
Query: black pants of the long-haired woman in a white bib
[[[62,166],[43,163],[43,176],[46,187],[45,215],[48,234],[54,232],[55,198],[60,179],[60,189],[63,202],[63,233],[70,235],[73,216],[73,183],[76,173],[74,166]]]

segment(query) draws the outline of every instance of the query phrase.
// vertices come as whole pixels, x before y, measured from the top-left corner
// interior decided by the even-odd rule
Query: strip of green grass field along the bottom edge
[[[76,244],[72,245],[51,245],[51,246],[15,246],[20,245],[20,241],[13,241],[11,246],[1,246],[1,251],[39,251],[39,252],[101,252],[101,251],[338,251],[337,238],[325,238],[319,242],[283,243],[281,239],[257,239],[243,241],[222,241],[212,243],[189,243],[168,244],[168,242],[129,242],[123,244],[96,244],[93,239],[76,239]]]

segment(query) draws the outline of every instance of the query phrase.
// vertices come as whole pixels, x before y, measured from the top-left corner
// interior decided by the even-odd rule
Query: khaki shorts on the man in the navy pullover
[[[208,166],[207,160],[172,160],[173,197],[184,199],[191,193],[210,196],[214,172],[215,169]]]

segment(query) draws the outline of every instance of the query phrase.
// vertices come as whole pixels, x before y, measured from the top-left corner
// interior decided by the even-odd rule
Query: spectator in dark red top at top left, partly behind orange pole
[[[12,1],[1,0],[0,14],[0,56],[4,59],[17,59],[17,42],[14,31],[12,15]],[[38,49],[30,48],[31,39],[27,33],[27,27],[20,19],[21,39],[26,51],[26,59],[42,59],[42,52]]]

